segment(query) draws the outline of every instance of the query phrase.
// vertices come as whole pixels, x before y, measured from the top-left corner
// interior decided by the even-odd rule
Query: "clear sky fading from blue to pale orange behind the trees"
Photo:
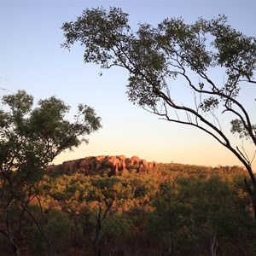
[[[130,25],[152,25],[166,17],[183,17],[192,23],[198,17],[227,15],[231,26],[255,36],[256,1],[4,1],[0,0],[0,96],[26,90],[35,101],[57,96],[71,106],[95,108],[102,129],[87,137],[87,145],[67,151],[55,164],[91,155],[125,155],[163,163],[201,166],[241,166],[226,148],[207,134],[187,126],[158,119],[133,105],[125,94],[128,74],[84,64],[79,45],[61,48],[63,22],[76,20],[83,9],[120,7],[129,14]],[[135,29],[136,30],[136,29]],[[255,96],[255,88],[243,96]],[[255,110],[256,104],[251,106]],[[255,112],[256,113],[256,112]],[[254,169],[255,161],[254,161]]]

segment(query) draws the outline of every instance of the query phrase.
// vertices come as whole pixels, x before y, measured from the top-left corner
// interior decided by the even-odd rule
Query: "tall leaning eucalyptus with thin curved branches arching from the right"
[[[84,62],[103,69],[123,67],[129,73],[127,96],[160,119],[196,127],[229,149],[250,176],[245,183],[256,217],[256,180],[253,153],[243,141],[256,146],[253,114],[245,107],[242,90],[254,90],[256,39],[228,24],[224,15],[200,18],[193,24],[165,19],[157,26],[129,26],[122,9],[85,9],[77,20],[63,23],[70,49],[84,47]],[[253,104],[253,94],[247,95]],[[228,120],[221,125],[221,120]],[[238,141],[233,142],[233,135]],[[255,152],[254,152],[255,155]]]

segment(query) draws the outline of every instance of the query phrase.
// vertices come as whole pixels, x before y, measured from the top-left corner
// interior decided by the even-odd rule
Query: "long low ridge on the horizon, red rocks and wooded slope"
[[[209,176],[219,177],[247,176],[247,172],[240,166],[196,166],[179,163],[156,163],[140,159],[138,156],[131,158],[125,155],[99,155],[87,156],[78,160],[67,160],[61,165],[49,165],[45,172],[49,175],[57,173],[73,174],[75,172],[84,175],[122,175],[124,171],[136,173],[152,173],[166,178]]]

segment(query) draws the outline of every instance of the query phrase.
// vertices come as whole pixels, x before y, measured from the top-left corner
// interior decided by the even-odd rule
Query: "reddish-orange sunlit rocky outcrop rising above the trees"
[[[104,170],[109,171],[109,175],[118,175],[123,170],[135,169],[137,172],[146,172],[156,166],[154,162],[141,160],[137,156],[126,158],[124,155],[100,155],[88,156],[79,160],[69,160],[61,165],[47,166],[46,172],[67,171],[67,172],[83,172],[87,175],[102,173]]]

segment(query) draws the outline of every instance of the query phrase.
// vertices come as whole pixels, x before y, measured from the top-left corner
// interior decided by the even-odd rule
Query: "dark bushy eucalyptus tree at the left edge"
[[[79,105],[73,121],[69,106],[55,96],[33,106],[33,97],[19,90],[2,98],[0,109],[0,233],[20,255],[22,225],[37,197],[44,167],[66,149],[88,143],[84,137],[97,131],[101,119],[95,110]],[[35,218],[33,218],[36,221]],[[40,229],[40,223],[36,222]],[[41,230],[42,231],[42,230]]]

